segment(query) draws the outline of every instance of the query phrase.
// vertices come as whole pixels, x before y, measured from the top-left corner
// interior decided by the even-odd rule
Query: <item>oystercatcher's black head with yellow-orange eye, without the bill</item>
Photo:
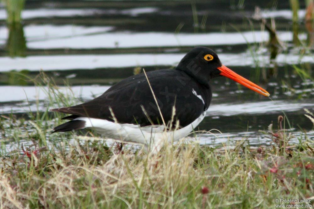
[[[210,79],[220,76],[221,71],[217,68],[221,66],[218,55],[213,50],[198,46],[182,58],[176,69],[185,71],[201,84],[209,86]]]

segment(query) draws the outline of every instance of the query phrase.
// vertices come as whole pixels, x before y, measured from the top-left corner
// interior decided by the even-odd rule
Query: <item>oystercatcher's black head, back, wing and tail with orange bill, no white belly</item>
[[[229,77],[253,91],[269,96],[269,93],[261,87],[222,65],[213,50],[195,47],[182,58],[175,69],[147,73],[166,125],[175,127],[170,126],[169,123],[173,121],[175,124],[179,121],[182,128],[198,118],[201,118],[201,121],[212,99],[209,81],[218,76]],[[171,120],[173,107],[176,112],[174,120]],[[140,127],[163,123],[143,73],[118,82],[89,102],[56,108],[52,111],[71,114],[62,119],[72,120],[54,128],[55,132],[82,128],[83,124],[77,122],[78,117],[104,119],[111,122],[116,120],[120,124],[138,124]],[[191,130],[192,128],[195,127],[190,127]]]

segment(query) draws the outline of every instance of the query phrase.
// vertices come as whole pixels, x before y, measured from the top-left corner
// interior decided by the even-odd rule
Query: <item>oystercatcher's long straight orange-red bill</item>
[[[252,89],[253,91],[256,91],[259,94],[263,94],[266,97],[269,97],[269,93],[257,86],[255,83],[243,78],[242,76],[236,74],[235,72],[231,71],[229,68],[227,68],[225,65],[221,65],[221,67],[217,68],[219,71],[221,71],[220,75],[226,76],[227,78],[230,78],[238,83],[240,83],[243,86],[248,87],[249,89]]]

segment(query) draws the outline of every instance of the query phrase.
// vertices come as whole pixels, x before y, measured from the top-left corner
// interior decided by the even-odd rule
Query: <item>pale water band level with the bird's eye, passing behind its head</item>
[[[10,70],[44,71],[51,70],[90,70],[97,68],[122,68],[135,66],[177,65],[185,54],[111,54],[111,55],[38,55],[25,58],[0,57],[1,72]],[[123,60],[121,57],[123,56]],[[258,66],[267,67],[268,55],[252,58],[248,52],[239,54],[219,54],[219,59],[228,66],[252,66],[260,60]],[[239,61],[241,60],[241,61]],[[285,54],[278,55],[277,65],[314,63],[312,56]],[[281,86],[285,87],[285,86]],[[287,87],[287,86],[286,86]]]

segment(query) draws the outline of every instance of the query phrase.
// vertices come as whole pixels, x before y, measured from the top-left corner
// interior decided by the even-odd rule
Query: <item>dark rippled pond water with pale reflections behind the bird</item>
[[[75,97],[89,100],[132,76],[136,67],[170,68],[202,45],[271,94],[263,97],[223,77],[213,80],[213,100],[198,129],[221,133],[199,135],[202,144],[228,138],[269,144],[258,130],[267,130],[284,114],[295,141],[304,131],[314,140],[313,124],[303,110],[314,112],[313,35],[300,3],[299,21],[292,24],[285,0],[30,0],[22,22],[11,25],[0,4],[0,114],[27,118],[24,113],[46,110],[45,87],[30,81],[40,71],[52,76],[61,91],[69,91],[63,87],[66,80]],[[275,47],[258,18],[276,23]]]

